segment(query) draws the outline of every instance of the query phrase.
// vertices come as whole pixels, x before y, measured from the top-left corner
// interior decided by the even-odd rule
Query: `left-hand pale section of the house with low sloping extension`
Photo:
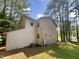
[[[7,51],[23,48],[29,46],[31,43],[35,43],[36,37],[34,21],[30,17],[27,17],[25,15],[22,16],[21,20],[25,23],[22,23],[22,29],[7,33]]]

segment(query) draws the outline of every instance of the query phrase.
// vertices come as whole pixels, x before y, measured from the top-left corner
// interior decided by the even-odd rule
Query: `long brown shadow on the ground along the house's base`
[[[26,48],[22,48],[22,49],[13,50],[13,51],[5,51],[5,49],[1,49],[0,58],[4,58],[4,57],[11,56],[14,54],[19,54],[21,52],[26,57],[31,57],[31,56],[46,52],[48,50],[49,50],[49,48],[47,48],[47,47],[37,47],[37,46],[35,48],[26,47]]]

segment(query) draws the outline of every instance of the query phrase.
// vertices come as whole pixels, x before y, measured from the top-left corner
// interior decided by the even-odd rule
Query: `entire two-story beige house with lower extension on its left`
[[[7,33],[6,50],[27,47],[30,44],[50,45],[56,43],[56,24],[51,17],[38,20],[22,15],[20,30]]]

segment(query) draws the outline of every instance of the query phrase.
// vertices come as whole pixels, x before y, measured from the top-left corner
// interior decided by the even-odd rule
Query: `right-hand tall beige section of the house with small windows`
[[[51,17],[41,17],[37,21],[37,44],[55,44],[57,39],[56,24]]]

